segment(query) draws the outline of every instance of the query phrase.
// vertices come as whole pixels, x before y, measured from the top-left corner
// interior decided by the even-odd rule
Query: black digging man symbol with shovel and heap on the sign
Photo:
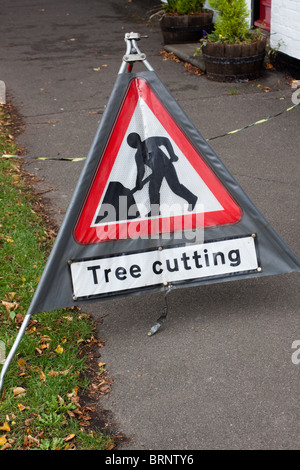
[[[170,189],[177,196],[182,197],[189,204],[189,210],[193,210],[198,197],[189,191],[182,183],[180,183],[173,163],[178,160],[175,155],[172,144],[167,137],[148,137],[142,140],[140,135],[132,132],[127,137],[127,143],[130,147],[136,150],[135,162],[137,166],[136,186],[133,189],[128,189],[122,183],[111,181],[107,188],[105,197],[102,204],[110,204],[114,207],[116,214],[115,220],[124,220],[124,218],[134,219],[140,216],[135,199],[134,193],[140,191],[146,183],[149,182],[149,200],[151,211],[147,217],[159,215],[160,207],[160,189],[165,178]],[[165,147],[169,156],[161,149]],[[151,174],[144,178],[145,166],[151,169]],[[130,208],[130,214],[120,214],[120,197],[127,197],[127,209]],[[99,223],[105,217],[105,221],[109,222],[107,212],[99,214],[96,223]]]

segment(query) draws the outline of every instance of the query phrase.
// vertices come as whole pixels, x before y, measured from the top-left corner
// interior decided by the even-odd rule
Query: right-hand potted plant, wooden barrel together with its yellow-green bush
[[[207,78],[216,81],[253,80],[263,70],[266,38],[249,29],[245,0],[209,0],[217,12],[214,31],[202,40]]]

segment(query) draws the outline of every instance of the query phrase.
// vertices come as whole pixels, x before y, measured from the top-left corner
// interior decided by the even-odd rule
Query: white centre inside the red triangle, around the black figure
[[[141,141],[156,136],[167,138],[173,147],[175,155],[178,157],[178,160],[174,161],[172,165],[180,184],[184,185],[185,188],[198,198],[194,209],[191,210],[191,208],[188,207],[187,201],[172,191],[167,181],[168,178],[163,178],[159,191],[160,217],[169,217],[170,213],[177,216],[224,210],[217,198],[204,183],[201,176],[193,168],[186,156],[164,129],[157,117],[153,114],[149,106],[142,98],[139,98],[113,168],[110,172],[106,187],[99,201],[96,213],[93,217],[91,227],[95,227],[101,223],[107,224],[104,220],[103,222],[99,222],[99,219],[97,220],[97,216],[101,210],[103,202],[105,202],[105,195],[107,194],[107,189],[110,183],[118,182],[123,185],[126,190],[133,190],[136,187],[137,165],[135,154],[137,150],[130,147],[127,142],[127,137],[131,133],[137,133],[140,136]],[[161,146],[160,150],[162,150],[167,158],[170,159],[170,155],[164,146]],[[144,169],[145,173],[143,180],[152,174],[150,167],[146,164]],[[149,218],[149,182],[146,183],[142,189],[135,191],[133,197],[140,212],[139,220]]]

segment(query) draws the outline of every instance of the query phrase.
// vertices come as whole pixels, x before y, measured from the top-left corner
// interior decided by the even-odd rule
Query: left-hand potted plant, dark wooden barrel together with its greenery
[[[212,30],[213,11],[201,0],[162,0],[159,13],[164,44],[197,42]]]

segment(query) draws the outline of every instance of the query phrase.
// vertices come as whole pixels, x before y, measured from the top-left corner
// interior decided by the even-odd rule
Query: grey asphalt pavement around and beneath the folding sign
[[[210,142],[242,188],[300,256],[300,109],[290,77],[216,83],[160,54],[151,1],[1,0],[0,80],[23,116],[19,143],[31,157],[84,157],[125,53],[138,32],[142,52],[205,138],[279,116]],[[138,67],[142,67],[139,65]],[[60,225],[82,162],[28,160]],[[101,360],[114,380],[99,403],[123,450],[299,449],[299,273],[178,289],[168,319],[163,294],[82,309],[103,319]]]

